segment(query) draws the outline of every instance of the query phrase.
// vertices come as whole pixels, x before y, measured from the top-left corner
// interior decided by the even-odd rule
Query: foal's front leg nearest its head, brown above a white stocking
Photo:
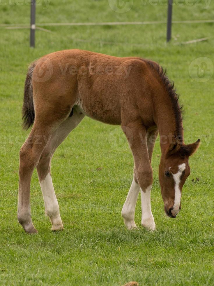
[[[128,122],[128,124],[123,125],[122,127],[125,135],[130,144],[130,148],[132,150],[134,161],[135,161],[135,180],[137,181],[137,185],[141,191],[141,205],[142,205],[142,221],[141,224],[148,230],[155,230],[155,222],[154,217],[151,212],[151,202],[150,202],[150,193],[151,187],[153,183],[153,170],[151,167],[148,148],[147,148],[147,140],[146,140],[146,128],[142,126],[141,122]],[[127,132],[129,130],[129,132]],[[127,133],[131,133],[127,134]],[[135,188],[137,189],[137,185]],[[131,188],[132,189],[132,188]],[[127,200],[130,201],[129,196],[132,196],[132,204],[137,201],[137,192],[131,192],[131,189],[128,193]],[[134,194],[134,195],[133,195]],[[136,195],[137,194],[137,195]],[[125,203],[126,205],[126,203]],[[124,205],[124,206],[125,206]],[[135,211],[132,207],[132,212]],[[123,212],[122,212],[122,215]],[[124,217],[124,216],[123,216]],[[132,218],[133,218],[132,214]],[[125,219],[124,219],[125,221]],[[125,221],[126,224],[126,221]],[[126,224],[127,225],[127,224]],[[128,225],[127,225],[128,226]]]

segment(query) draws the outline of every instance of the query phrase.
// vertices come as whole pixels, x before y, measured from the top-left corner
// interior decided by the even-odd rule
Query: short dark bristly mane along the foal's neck
[[[174,88],[174,82],[170,81],[166,75],[166,69],[163,69],[158,63],[144,60],[159,76],[160,81],[163,83],[172,103],[172,108],[174,111],[175,122],[176,122],[176,130],[175,130],[175,137],[183,137],[182,136],[182,119],[183,119],[183,105],[180,106],[179,104],[179,95],[176,93],[176,89]],[[182,138],[183,139],[183,138]]]

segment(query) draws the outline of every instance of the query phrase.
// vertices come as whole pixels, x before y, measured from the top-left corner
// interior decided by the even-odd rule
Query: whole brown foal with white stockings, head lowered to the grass
[[[168,217],[181,209],[181,190],[190,175],[189,157],[200,139],[184,143],[182,107],[174,83],[158,63],[140,57],[114,57],[84,50],[62,50],[34,61],[28,69],[22,107],[23,128],[33,125],[20,149],[18,222],[32,223],[30,182],[34,168],[52,230],[63,229],[51,177],[56,148],[84,118],[121,125],[134,159],[133,181],[122,208],[128,229],[136,229],[135,206],[142,198],[141,224],[156,226],[151,211],[151,158],[160,133],[159,182]]]

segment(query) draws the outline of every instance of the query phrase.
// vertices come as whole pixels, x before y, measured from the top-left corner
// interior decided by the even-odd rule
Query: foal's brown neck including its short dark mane
[[[161,152],[165,154],[172,139],[180,136],[183,142],[181,107],[178,103],[178,95],[174,89],[174,83],[169,81],[166,71],[156,62],[150,60],[144,60],[144,62],[151,71],[153,119],[160,133]]]

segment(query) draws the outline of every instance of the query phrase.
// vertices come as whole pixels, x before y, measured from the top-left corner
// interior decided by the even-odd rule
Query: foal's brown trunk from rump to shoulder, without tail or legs
[[[33,79],[40,69],[47,79],[33,81],[38,109],[55,99],[58,111],[61,107],[66,113],[77,105],[91,118],[119,125],[121,114],[153,113],[149,86],[153,73],[141,58],[63,50],[38,60]]]

